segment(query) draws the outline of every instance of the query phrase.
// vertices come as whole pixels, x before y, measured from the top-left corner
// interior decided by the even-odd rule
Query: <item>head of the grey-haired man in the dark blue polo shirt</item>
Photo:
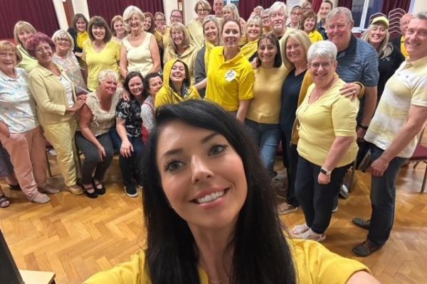
[[[353,22],[344,13],[339,13],[337,16],[330,18],[327,23],[327,37],[338,51],[342,51],[350,44],[352,38]]]

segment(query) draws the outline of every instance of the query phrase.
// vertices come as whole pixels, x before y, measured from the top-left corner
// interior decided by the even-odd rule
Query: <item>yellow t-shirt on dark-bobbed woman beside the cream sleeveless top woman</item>
[[[111,69],[119,74],[120,44],[110,40],[99,53],[93,49],[90,40],[83,43],[83,60],[88,65],[88,89],[95,91],[97,77],[102,70]]]

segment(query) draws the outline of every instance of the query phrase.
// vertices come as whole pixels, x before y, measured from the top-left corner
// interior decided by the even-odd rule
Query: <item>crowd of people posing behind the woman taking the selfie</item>
[[[176,124],[186,124],[184,132],[208,127],[192,121],[206,117],[189,107],[209,111],[210,104],[183,103],[203,99],[225,111],[216,115],[227,113],[244,125],[256,149],[239,143],[233,148],[253,151],[239,154],[243,160],[259,153],[270,179],[281,142],[287,202],[275,210],[302,208],[305,224],[290,230],[296,239],[325,239],[344,175],[369,152],[372,214],[353,220],[369,234],[353,253],[368,256],[380,249],[393,226],[396,177],[427,119],[427,13],[402,17],[402,36],[391,41],[386,17],[374,18],[358,38],[352,12],[329,0],[319,13],[305,2],[289,14],[277,1],[268,9],[256,7],[247,21],[221,0],[213,8],[199,0],[194,12],[197,17],[184,25],[181,11],[172,11],[170,26],[164,13],[153,16],[136,6],[110,25],[101,16],[88,21],[78,13],[68,31],[52,37],[31,23],[16,23],[16,45],[0,41],[1,177],[28,200],[49,202],[47,194],[60,189],[46,178],[47,140],[57,153],[64,190],[75,195],[107,192],[103,182],[115,153],[127,196],[137,197],[137,187],[153,178],[144,172],[162,178],[166,191],[163,171],[152,169],[159,167],[155,157],[144,165],[152,171],[141,167],[144,147],[153,131],[154,154],[147,155],[165,148],[158,141],[174,141],[172,130],[169,138],[159,136],[159,121],[165,129],[170,120],[181,121]],[[174,104],[183,104],[176,113],[189,117],[174,117]],[[230,142],[229,130],[211,130]],[[214,151],[224,148],[210,151],[218,155]],[[80,152],[85,159],[79,167]],[[0,207],[9,204],[0,190]]]

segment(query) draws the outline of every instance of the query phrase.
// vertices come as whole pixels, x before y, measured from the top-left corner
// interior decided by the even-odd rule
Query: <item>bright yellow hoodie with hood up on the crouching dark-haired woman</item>
[[[159,92],[156,94],[156,99],[154,102],[154,107],[157,109],[159,107],[164,106],[165,104],[177,104],[179,102],[188,101],[190,99],[201,99],[199,92],[197,92],[196,87],[191,86],[191,80],[189,75],[189,67],[184,63],[185,67],[185,78],[182,85],[182,93],[179,94],[176,92],[172,84],[170,84],[170,77],[172,66],[174,66],[176,61],[180,61],[178,59],[169,60],[164,65],[163,72],[163,87],[159,89]]]

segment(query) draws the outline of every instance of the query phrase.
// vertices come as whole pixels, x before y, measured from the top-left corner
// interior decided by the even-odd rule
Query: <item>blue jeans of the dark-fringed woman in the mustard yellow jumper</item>
[[[280,143],[279,124],[258,124],[249,119],[245,119],[245,124],[256,145],[260,148],[260,158],[264,167],[273,176],[275,156]]]

